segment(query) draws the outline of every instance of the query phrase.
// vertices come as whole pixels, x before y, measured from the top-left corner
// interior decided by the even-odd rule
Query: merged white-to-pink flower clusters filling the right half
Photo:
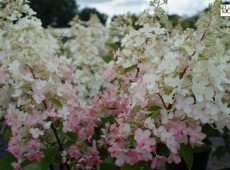
[[[201,132],[204,124],[220,132],[224,127],[230,129],[229,103],[223,100],[230,84],[230,56],[226,52],[229,47],[222,43],[226,31],[222,30],[219,1],[201,14],[197,30],[187,29],[172,35],[161,26],[167,18],[160,8],[160,0],[152,4],[157,11],[155,15],[150,18],[143,13],[138,21],[142,27],[122,39],[116,61],[109,63],[107,69],[110,80],[118,86],[118,96],[129,104],[128,113],[117,116],[120,119],[109,133],[109,151],[118,166],[152,160],[154,169],[156,159],[172,162],[171,157],[178,155],[181,144],[201,143],[205,138]],[[133,139],[136,145],[129,143],[131,135],[123,135],[127,124],[129,133],[137,136]],[[138,144],[142,140],[141,131],[148,134],[145,138],[153,137],[164,143],[170,156],[162,157],[155,150],[152,159],[149,154],[152,146]]]

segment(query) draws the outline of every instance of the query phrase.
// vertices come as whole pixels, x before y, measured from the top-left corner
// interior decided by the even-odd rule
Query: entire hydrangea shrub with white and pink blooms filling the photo
[[[165,0],[151,1],[155,13],[141,13],[135,29],[119,21],[111,32],[96,18],[75,18],[62,52],[27,3],[0,4],[9,166],[156,169],[183,158],[191,169],[192,150],[206,138],[202,127],[230,128],[229,21],[220,1],[196,30],[171,31]],[[120,47],[107,64],[106,41]]]

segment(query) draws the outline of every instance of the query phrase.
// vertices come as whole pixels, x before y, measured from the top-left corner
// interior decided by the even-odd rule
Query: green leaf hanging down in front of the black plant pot
[[[185,163],[189,170],[192,168],[193,164],[193,151],[191,145],[180,145],[180,155],[185,160]]]

